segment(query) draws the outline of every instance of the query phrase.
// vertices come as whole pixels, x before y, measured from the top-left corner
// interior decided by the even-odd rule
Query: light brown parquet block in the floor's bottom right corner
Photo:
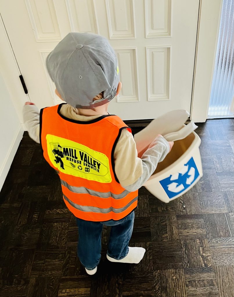
[[[234,296],[234,266],[215,266],[220,297]]]

